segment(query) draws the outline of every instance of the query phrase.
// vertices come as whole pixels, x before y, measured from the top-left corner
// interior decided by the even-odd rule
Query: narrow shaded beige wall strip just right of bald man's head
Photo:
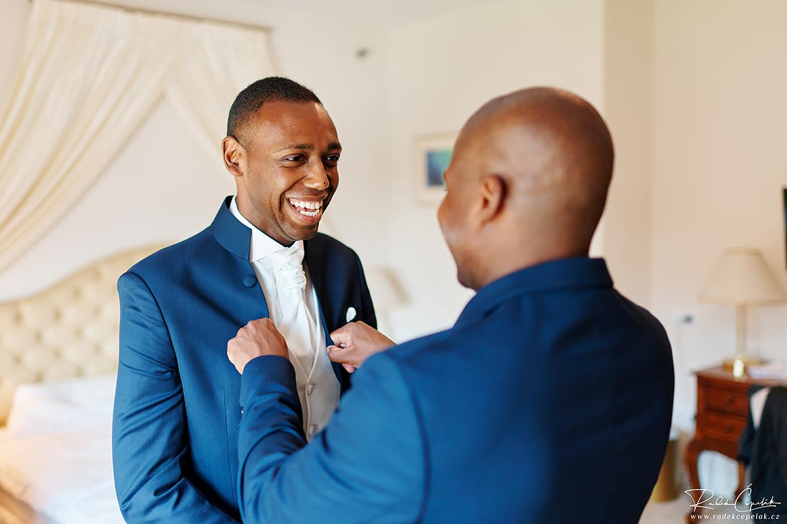
[[[615,287],[651,299],[652,0],[604,2],[604,118],[615,170],[601,251]]]

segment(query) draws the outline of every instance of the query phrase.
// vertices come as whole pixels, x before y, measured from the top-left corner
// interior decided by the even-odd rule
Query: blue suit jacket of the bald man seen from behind
[[[639,519],[671,423],[669,341],[603,260],[491,283],[453,329],[372,356],[305,445],[290,363],[242,378],[244,522]]]

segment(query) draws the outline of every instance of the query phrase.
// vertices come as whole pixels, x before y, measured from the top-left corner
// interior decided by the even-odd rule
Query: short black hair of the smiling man
[[[266,102],[280,100],[323,103],[312,90],[300,83],[283,76],[268,76],[250,84],[235,97],[227,117],[227,136],[243,143],[245,137],[242,135],[245,135],[260,107]]]

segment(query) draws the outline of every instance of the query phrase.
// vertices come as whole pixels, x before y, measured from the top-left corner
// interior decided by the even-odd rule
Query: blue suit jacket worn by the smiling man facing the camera
[[[130,524],[236,522],[238,371],[227,341],[268,308],[249,263],[251,231],[221,205],[192,238],[136,264],[118,281],[120,367],[113,464]],[[375,323],[360,260],[318,234],[305,258],[328,334],[358,318]],[[334,371],[349,386],[346,372]]]

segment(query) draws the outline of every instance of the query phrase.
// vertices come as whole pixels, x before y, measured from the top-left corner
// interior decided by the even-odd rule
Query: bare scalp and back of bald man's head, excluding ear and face
[[[504,179],[508,212],[589,247],[613,159],[609,131],[592,105],[549,87],[516,91],[479,109],[462,135],[478,162],[471,175]]]

